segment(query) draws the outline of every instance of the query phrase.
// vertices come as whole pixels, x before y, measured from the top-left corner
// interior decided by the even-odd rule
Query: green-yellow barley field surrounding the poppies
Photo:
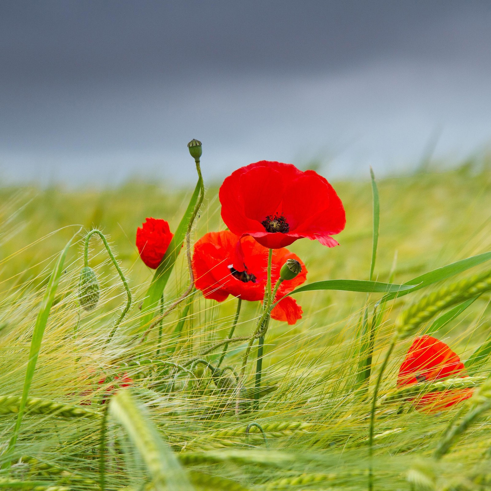
[[[340,246],[303,239],[288,247],[307,267],[305,284],[369,279],[369,173],[365,181],[332,184],[347,214],[336,236]],[[154,271],[139,258],[136,228],[154,217],[175,231],[192,189],[143,182],[101,191],[0,189],[0,488],[491,489],[491,253],[481,255],[491,251],[491,166],[468,163],[377,185],[373,279],[418,288],[399,298],[296,294],[303,317],[293,326],[271,322],[260,392],[253,390],[255,345],[240,376],[260,302],[243,302],[238,339],[221,365],[229,368],[214,370],[237,299],[218,303],[198,291],[174,305],[190,281],[186,246],[162,307],[144,322]],[[205,189],[191,249],[204,233],[225,228],[218,187],[205,182]],[[112,338],[127,292],[97,235],[88,265],[100,300],[91,311],[79,302],[84,238],[94,227],[107,238],[132,296]],[[472,256],[478,257],[459,262]],[[401,362],[424,332],[447,343],[470,377],[397,392]],[[448,409],[415,409],[425,392],[469,387],[473,396]]]

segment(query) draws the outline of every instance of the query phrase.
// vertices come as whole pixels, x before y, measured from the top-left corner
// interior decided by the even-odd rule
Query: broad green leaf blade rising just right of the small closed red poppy
[[[174,237],[172,237],[172,240],[170,241],[162,262],[155,271],[150,287],[148,288],[145,300],[143,301],[143,305],[141,307],[141,327],[147,326],[152,321],[154,309],[158,305],[159,300],[164,293],[165,285],[167,284],[170,273],[172,273],[172,268],[174,267],[177,256],[181,251],[184,239],[186,238],[186,232],[192,219],[194,207],[198,201],[201,188],[202,180],[199,178],[196,187],[194,188],[194,192],[192,193],[188,208],[186,209],[186,212],[184,213],[184,216],[177,227]]]

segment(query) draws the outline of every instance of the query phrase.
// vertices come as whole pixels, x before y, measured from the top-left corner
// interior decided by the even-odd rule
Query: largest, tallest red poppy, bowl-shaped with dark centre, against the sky
[[[295,165],[261,161],[232,172],[220,187],[221,218],[239,237],[276,249],[306,237],[328,247],[344,229],[343,203],[327,180]]]

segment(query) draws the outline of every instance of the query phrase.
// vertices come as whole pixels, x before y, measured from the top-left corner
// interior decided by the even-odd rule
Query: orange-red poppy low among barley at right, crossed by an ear
[[[445,379],[450,376],[467,377],[464,363],[445,343],[432,336],[414,340],[402,362],[397,386]],[[473,389],[430,392],[418,398],[416,409],[428,412],[449,408],[472,395]]]

